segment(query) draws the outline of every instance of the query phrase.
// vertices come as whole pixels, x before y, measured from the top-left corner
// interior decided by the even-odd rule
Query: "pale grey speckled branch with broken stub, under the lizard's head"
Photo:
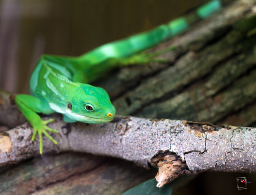
[[[137,117],[116,117],[106,124],[68,124],[58,116],[55,119],[56,122],[49,126],[59,130],[59,134],[52,135],[58,146],[44,137],[44,152],[89,152],[120,157],[144,167],[150,164],[161,167],[165,164],[155,159],[169,151],[171,163],[168,163],[179,161],[180,167],[167,175],[166,171],[161,171],[161,182],[173,180],[176,178],[173,174],[181,175],[180,171],[186,174],[184,169],[188,173],[205,170],[256,172],[256,128]],[[0,165],[38,155],[38,139],[33,144],[31,136],[28,123],[4,132],[0,138]]]

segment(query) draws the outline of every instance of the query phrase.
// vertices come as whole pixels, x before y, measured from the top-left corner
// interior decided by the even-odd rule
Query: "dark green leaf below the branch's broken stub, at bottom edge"
[[[165,184],[161,188],[157,188],[156,179],[147,180],[134,188],[126,191],[122,195],[171,195],[172,183]]]

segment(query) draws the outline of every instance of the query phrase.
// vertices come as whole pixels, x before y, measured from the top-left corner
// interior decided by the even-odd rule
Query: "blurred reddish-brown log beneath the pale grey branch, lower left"
[[[44,154],[8,168],[0,172],[3,195],[119,195],[157,172],[120,159],[81,153]]]

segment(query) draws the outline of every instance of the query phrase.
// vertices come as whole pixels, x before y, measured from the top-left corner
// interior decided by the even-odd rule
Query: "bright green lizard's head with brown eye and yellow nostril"
[[[74,94],[68,98],[67,112],[65,113],[71,120],[85,123],[105,123],[114,118],[115,107],[104,89],[89,84],[80,84]]]

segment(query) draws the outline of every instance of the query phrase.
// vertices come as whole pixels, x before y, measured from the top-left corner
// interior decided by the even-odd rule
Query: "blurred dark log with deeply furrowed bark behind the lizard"
[[[255,1],[236,1],[221,14],[155,49],[170,64],[122,69],[97,85],[109,91],[117,114],[225,123],[227,116],[255,110]],[[118,81],[116,82],[116,79]],[[128,90],[129,89],[129,90]],[[251,125],[251,116],[240,125]]]

